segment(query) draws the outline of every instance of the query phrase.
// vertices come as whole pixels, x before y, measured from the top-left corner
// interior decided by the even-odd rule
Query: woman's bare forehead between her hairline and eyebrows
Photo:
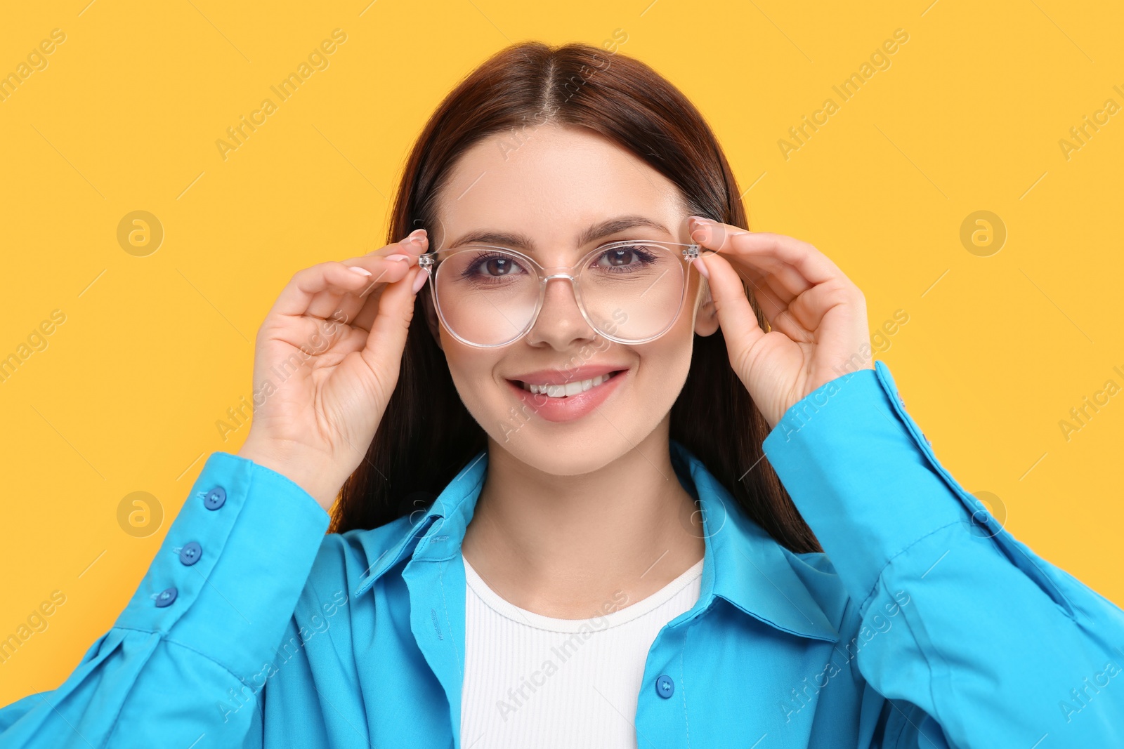
[[[443,246],[479,229],[572,246],[590,225],[627,214],[673,232],[686,218],[679,190],[654,168],[591,130],[553,125],[473,145],[437,202]]]

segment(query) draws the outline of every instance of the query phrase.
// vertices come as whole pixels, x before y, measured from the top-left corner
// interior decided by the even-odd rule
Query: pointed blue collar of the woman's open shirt
[[[705,609],[714,597],[720,597],[776,629],[839,641],[839,631],[792,568],[804,563],[746,517],[703,462],[676,440],[671,440],[671,458],[680,483],[699,502],[703,515],[706,550],[696,608]],[[378,547],[386,544],[384,537],[375,537],[375,531],[361,533],[368,558],[372,558],[372,551],[379,557],[353,595],[359,597],[370,590],[407,555],[415,560],[442,560],[459,554],[487,468],[488,453],[481,450],[425,514],[414,521],[396,521],[402,524],[404,532],[381,554]]]

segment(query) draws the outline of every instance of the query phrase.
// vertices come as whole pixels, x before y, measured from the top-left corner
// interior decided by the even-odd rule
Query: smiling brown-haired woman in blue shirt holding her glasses
[[[861,292],[740,194],[642,63],[489,60],[406,239],[293,276],[245,445],[0,743],[1124,746],[1124,612],[949,475]]]

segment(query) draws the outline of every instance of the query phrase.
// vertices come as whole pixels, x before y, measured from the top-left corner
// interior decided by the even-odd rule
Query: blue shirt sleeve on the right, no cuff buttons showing
[[[1124,611],[957,483],[885,364],[809,393],[763,448],[859,605],[886,697],[863,702],[871,749],[1124,746]]]

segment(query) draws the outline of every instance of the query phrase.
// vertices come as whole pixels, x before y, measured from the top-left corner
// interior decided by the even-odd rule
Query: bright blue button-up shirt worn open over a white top
[[[881,362],[792,405],[764,449],[824,554],[778,545],[672,441],[706,551],[698,602],[649,651],[640,747],[1124,747],[1124,612],[953,479]],[[212,454],[112,629],[0,710],[0,746],[487,747],[460,736],[486,469],[325,535],[299,486]]]

